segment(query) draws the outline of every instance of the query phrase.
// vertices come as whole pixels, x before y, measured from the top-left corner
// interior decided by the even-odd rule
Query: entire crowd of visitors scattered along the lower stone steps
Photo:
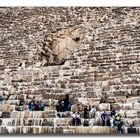
[[[3,97],[0,96],[0,103],[3,102]],[[21,96],[19,99],[19,106],[24,105],[24,96]],[[65,95],[65,98],[58,101],[56,105],[57,112],[66,112],[71,111],[71,106],[73,105],[72,101],[69,98],[69,95]],[[31,100],[28,103],[29,111],[44,111],[45,102],[43,100]],[[81,125],[80,114],[83,115],[84,123],[83,126],[89,126],[88,119],[94,118],[97,111],[95,106],[84,106],[82,109],[83,112],[73,112],[72,114],[72,125],[79,126]],[[79,113],[80,112],[80,113]],[[112,110],[108,115],[104,110],[100,116],[102,126],[110,126],[111,128],[117,127],[117,133],[124,133],[124,121],[118,110]],[[136,133],[136,128],[132,124],[127,128],[128,133]]]

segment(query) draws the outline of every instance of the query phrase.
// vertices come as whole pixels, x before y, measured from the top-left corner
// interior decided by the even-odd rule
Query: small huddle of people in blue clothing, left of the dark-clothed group
[[[44,111],[45,102],[42,100],[31,100],[28,104],[29,111]]]

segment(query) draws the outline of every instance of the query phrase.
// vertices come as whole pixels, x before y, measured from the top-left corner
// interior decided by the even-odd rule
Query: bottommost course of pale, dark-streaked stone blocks
[[[137,134],[140,133],[140,127],[136,127]],[[116,134],[117,128],[108,126],[68,126],[68,127],[46,127],[46,126],[0,126],[1,134]],[[124,133],[127,133],[127,127]]]

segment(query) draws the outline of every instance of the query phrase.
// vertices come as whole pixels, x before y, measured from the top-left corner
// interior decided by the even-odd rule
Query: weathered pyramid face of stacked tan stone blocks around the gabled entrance
[[[125,130],[126,123],[139,126],[139,12],[139,7],[0,8],[0,133],[116,133],[102,127],[100,118],[113,109],[120,110]],[[66,94],[71,111],[56,112]],[[42,99],[44,111],[28,111],[31,100]],[[97,108],[91,127],[82,126],[85,105]],[[73,111],[80,112],[81,126],[70,126]]]

